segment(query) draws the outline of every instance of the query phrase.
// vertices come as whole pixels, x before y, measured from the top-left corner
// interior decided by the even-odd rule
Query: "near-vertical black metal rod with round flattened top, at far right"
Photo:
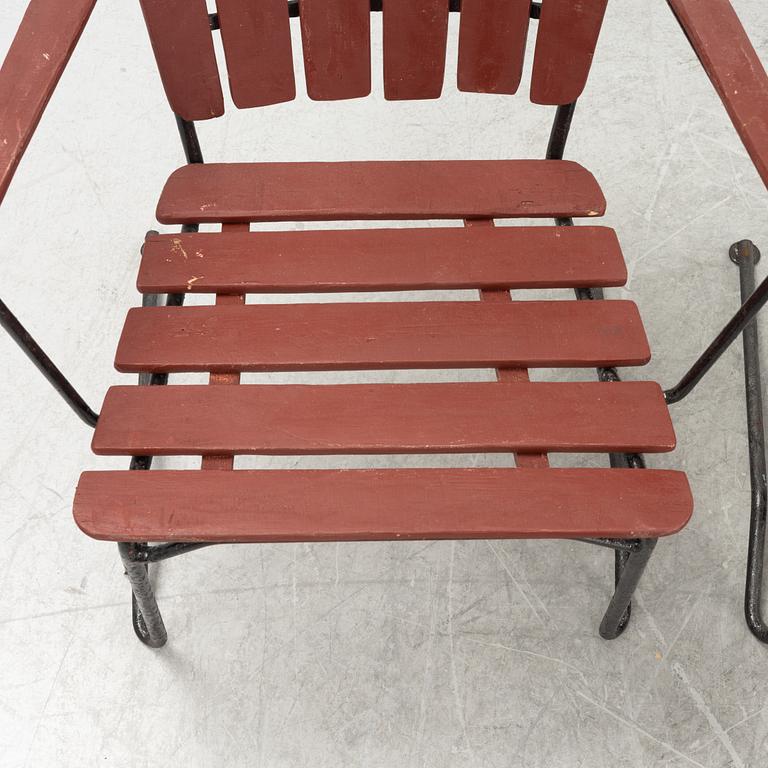
[[[755,266],[760,260],[760,251],[749,240],[742,240],[731,246],[729,255],[731,261],[739,267],[741,300],[745,302],[747,297],[753,296],[755,292]],[[744,328],[743,345],[751,491],[744,617],[750,632],[760,642],[768,643],[768,625],[763,620],[761,606],[768,484],[766,483],[760,348],[757,320],[754,318]]]

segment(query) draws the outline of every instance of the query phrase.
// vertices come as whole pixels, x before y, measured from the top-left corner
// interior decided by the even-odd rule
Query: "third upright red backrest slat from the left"
[[[302,0],[301,39],[310,99],[371,92],[369,0]]]

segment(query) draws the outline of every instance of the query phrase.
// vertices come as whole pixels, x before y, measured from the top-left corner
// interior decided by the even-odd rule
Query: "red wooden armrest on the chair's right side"
[[[667,0],[768,186],[768,75],[730,0]]]

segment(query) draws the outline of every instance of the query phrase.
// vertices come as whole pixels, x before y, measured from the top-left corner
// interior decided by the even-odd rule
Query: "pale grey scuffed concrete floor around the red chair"
[[[763,0],[734,5],[768,60]],[[0,50],[24,6],[2,3]],[[143,233],[182,162],[153,67],[138,3],[101,0],[0,209],[3,298],[95,407],[108,385],[133,380],[113,371],[114,348],[138,301]],[[439,102],[384,104],[380,71],[374,58],[378,98],[232,109],[200,126],[206,156],[544,151],[551,109],[458,94],[451,74]],[[662,0],[610,3],[568,157],[603,185],[630,270],[612,295],[638,302],[655,352],[628,375],[668,386],[736,307],[730,243],[750,237],[768,253],[768,195]],[[430,375],[398,380],[409,377]],[[741,612],[738,346],[675,407],[678,450],[651,459],[687,470],[696,511],[658,547],[632,625],[612,643],[597,636],[610,591],[602,550],[297,544],[214,548],[162,567],[171,640],[152,652],[132,635],[115,548],[83,536],[70,513],[81,470],[125,462],[90,454],[89,430],[3,335],[0,401],[3,766],[768,760],[768,649]]]

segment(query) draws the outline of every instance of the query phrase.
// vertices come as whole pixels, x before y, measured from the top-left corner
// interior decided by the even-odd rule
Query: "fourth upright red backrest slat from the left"
[[[384,98],[439,98],[445,74],[448,0],[387,0],[383,17]]]

